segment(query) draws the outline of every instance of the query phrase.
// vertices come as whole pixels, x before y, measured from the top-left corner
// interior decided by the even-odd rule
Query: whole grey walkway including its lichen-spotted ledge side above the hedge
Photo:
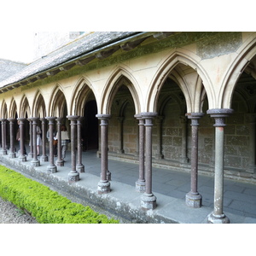
[[[84,173],[80,173],[77,183],[68,184],[67,175],[71,171],[70,152],[67,151],[65,166],[57,166],[58,172],[48,174],[49,162],[41,162],[33,167],[30,159],[20,162],[18,158],[9,159],[1,155],[0,161],[26,176],[41,183],[50,184],[58,192],[77,196],[119,216],[132,223],[207,223],[207,215],[213,211],[213,177],[200,175],[198,192],[202,195],[202,207],[189,208],[185,204],[185,195],[190,190],[190,174],[153,167],[153,193],[157,207],[143,211],[140,208],[141,193],[135,190],[138,179],[138,165],[118,160],[108,161],[111,172],[111,192],[97,194],[100,181],[101,159],[96,151],[83,152]],[[224,179],[224,213],[230,223],[256,223],[256,185]]]

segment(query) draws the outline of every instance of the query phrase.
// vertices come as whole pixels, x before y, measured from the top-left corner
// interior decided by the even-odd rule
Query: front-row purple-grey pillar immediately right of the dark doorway
[[[110,192],[110,183],[108,177],[108,119],[110,114],[96,114],[96,118],[101,120],[101,160],[102,173],[101,180],[98,183],[98,194],[107,194]]]

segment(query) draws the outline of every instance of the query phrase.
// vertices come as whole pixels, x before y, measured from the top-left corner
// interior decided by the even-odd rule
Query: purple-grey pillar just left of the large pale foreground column
[[[187,113],[191,119],[191,190],[186,195],[186,204],[188,207],[200,208],[201,195],[197,192],[198,184],[198,120],[204,113]]]

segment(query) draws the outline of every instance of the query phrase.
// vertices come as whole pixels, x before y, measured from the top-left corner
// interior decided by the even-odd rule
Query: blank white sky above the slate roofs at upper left
[[[0,35],[0,59],[29,63],[33,56],[32,31],[4,31]]]

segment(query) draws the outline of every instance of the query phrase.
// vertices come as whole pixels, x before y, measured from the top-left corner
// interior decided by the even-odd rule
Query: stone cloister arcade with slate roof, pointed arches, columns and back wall
[[[189,171],[186,204],[198,208],[198,173],[214,174],[208,222],[229,223],[224,176],[256,178],[255,79],[256,32],[87,33],[1,79],[1,154],[32,166],[48,161],[47,172],[57,172],[65,162],[61,137],[54,159],[52,134],[60,135],[65,124],[69,183],[79,183],[86,172],[83,150],[94,149],[102,160],[99,194],[111,193],[108,159],[125,160],[138,163],[134,186],[143,209],[157,207],[153,165]],[[40,158],[37,125],[43,131]]]

